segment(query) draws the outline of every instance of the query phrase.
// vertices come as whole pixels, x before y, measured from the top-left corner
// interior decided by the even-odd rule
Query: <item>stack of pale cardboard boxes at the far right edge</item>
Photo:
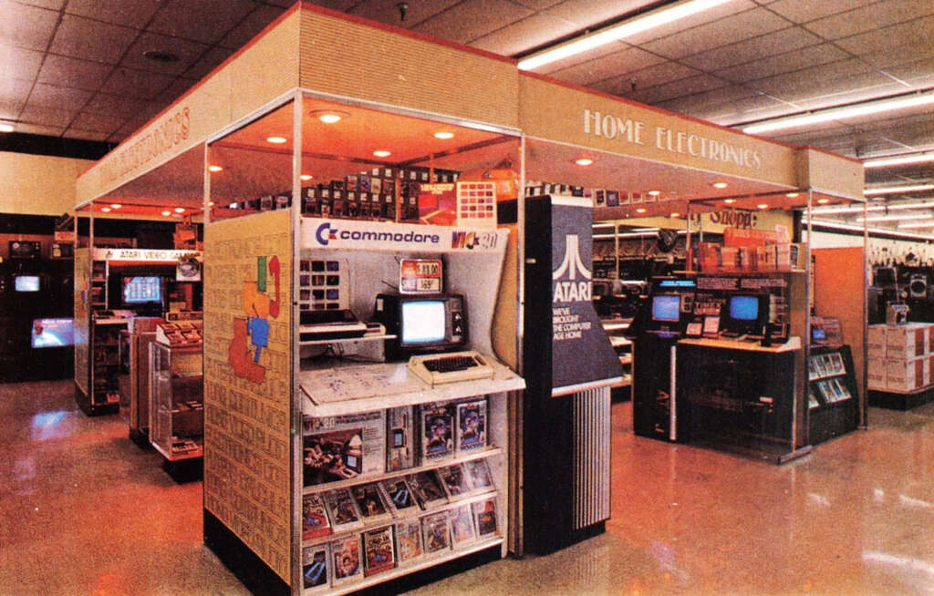
[[[869,389],[911,393],[934,383],[934,324],[869,327]]]

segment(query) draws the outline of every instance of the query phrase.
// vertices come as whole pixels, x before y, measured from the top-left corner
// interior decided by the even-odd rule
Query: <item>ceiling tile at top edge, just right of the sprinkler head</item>
[[[531,14],[529,8],[508,0],[466,0],[413,29],[466,44]]]

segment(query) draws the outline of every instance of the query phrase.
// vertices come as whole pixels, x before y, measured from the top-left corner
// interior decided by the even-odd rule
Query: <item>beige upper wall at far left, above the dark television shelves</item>
[[[93,165],[89,159],[0,151],[0,213],[62,215],[75,209],[78,174]]]

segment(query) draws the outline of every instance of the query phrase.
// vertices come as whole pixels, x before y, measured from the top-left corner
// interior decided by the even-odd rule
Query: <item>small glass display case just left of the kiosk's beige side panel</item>
[[[204,454],[202,362],[201,346],[149,344],[149,441],[170,463]]]

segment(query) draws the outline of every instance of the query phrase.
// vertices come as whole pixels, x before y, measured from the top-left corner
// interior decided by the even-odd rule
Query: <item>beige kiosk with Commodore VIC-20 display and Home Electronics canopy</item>
[[[679,149],[678,127],[720,157],[694,155],[687,132]],[[573,163],[582,152],[600,158],[587,171]],[[143,201],[155,188],[203,207],[205,542],[264,593],[344,592],[522,554],[540,521],[522,519],[521,458],[534,455],[523,437],[541,429],[527,417],[521,363],[524,337],[554,329],[523,325],[526,229],[537,225],[517,191],[527,178],[672,183],[679,199],[652,206],[668,215],[688,199],[811,188],[809,172],[827,160],[300,4],[82,175],[78,197]],[[729,192],[711,189],[721,177]],[[514,233],[496,227],[507,198]],[[403,259],[441,264],[444,282],[414,287],[444,295],[446,309],[462,297],[466,311],[455,311],[469,323],[457,345],[488,360],[486,379],[431,384],[399,364],[408,353],[386,312],[403,300],[385,296],[408,287]],[[560,275],[541,277],[562,298],[589,296],[587,264]],[[606,347],[612,374],[592,380],[619,381]],[[565,389],[584,395],[589,381]],[[574,416],[581,428],[599,418],[601,435],[575,457],[599,464],[582,473],[601,500],[577,511],[592,487],[566,491],[582,520],[609,512],[608,391],[593,402]],[[453,447],[429,445],[435,418],[460,428],[471,411],[485,412],[485,443],[464,449],[455,434]],[[478,468],[473,484],[448,481]],[[396,502],[400,486],[420,500]]]

